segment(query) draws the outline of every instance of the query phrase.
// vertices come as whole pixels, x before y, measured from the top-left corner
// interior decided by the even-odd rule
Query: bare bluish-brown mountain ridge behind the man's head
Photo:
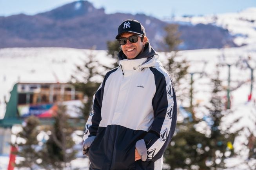
[[[124,20],[139,20],[156,50],[164,50],[165,21],[145,14],[106,14],[91,2],[80,0],[36,15],[0,16],[0,48],[11,47],[96,47],[106,50]],[[180,49],[236,47],[226,29],[216,25],[180,25],[184,44]],[[207,43],[205,43],[207,42]]]

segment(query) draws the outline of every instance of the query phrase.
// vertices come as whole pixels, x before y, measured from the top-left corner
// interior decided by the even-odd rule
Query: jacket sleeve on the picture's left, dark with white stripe
[[[102,84],[104,81],[102,82]],[[91,110],[91,113],[89,115],[89,118],[85,124],[85,130],[84,130],[84,136],[83,136],[83,147],[82,152],[85,156],[88,156],[87,152],[89,150],[89,147],[93,143],[94,138],[96,137],[96,133],[98,131],[98,127],[101,121],[101,107],[102,107],[102,97],[103,97],[103,88],[102,84],[100,84],[100,87],[96,91],[96,93],[93,96],[93,107]]]

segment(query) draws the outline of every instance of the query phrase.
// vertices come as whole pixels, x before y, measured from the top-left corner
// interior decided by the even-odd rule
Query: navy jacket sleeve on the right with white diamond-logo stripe
[[[174,134],[177,121],[176,95],[169,73],[163,68],[151,68],[151,71],[156,84],[152,101],[154,121],[143,139],[147,149],[147,159],[143,161],[156,161],[162,157]]]

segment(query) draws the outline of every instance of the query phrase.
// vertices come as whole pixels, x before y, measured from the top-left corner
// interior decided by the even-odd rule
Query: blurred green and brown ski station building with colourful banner
[[[69,118],[81,117],[83,93],[66,83],[16,83],[0,120],[0,154],[10,153],[11,127],[36,116],[42,125],[53,123],[58,104],[65,105]]]

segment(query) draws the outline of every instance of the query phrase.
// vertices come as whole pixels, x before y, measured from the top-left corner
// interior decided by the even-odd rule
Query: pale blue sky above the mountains
[[[0,16],[36,14],[75,0],[0,0]],[[89,0],[106,13],[144,13],[159,19],[182,15],[236,13],[256,7],[256,0]]]

